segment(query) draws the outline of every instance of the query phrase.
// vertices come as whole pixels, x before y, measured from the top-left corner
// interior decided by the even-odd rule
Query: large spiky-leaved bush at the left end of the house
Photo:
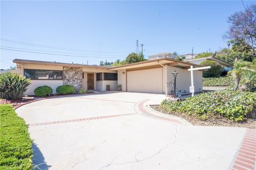
[[[0,98],[21,98],[29,84],[30,79],[22,77],[19,74],[10,72],[3,73],[0,75]]]

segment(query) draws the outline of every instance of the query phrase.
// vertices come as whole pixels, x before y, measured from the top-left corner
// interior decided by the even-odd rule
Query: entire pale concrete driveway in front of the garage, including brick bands
[[[36,101],[16,111],[29,124],[38,169],[228,169],[238,164],[250,131],[192,126],[147,107],[163,98],[132,92],[81,95]]]

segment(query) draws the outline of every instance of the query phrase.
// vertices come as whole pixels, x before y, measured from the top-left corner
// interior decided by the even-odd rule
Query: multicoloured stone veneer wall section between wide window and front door
[[[73,86],[76,92],[82,88],[82,78],[82,67],[63,66],[63,83]]]

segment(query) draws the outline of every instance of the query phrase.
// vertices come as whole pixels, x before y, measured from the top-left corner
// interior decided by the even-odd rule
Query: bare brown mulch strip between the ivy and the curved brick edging
[[[254,110],[253,113],[250,115],[247,115],[246,120],[241,122],[234,122],[229,120],[226,117],[223,117],[221,115],[212,115],[207,120],[199,120],[196,116],[188,115],[186,113],[167,113],[163,109],[160,108],[160,106],[150,106],[151,108],[155,109],[158,112],[162,112],[165,114],[170,114],[172,116],[177,116],[184,118],[189,123],[193,125],[198,126],[228,126],[228,127],[240,127],[240,128],[252,128],[256,129],[256,110]]]

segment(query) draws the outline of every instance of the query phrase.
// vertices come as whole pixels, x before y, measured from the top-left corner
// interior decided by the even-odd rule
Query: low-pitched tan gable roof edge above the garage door
[[[153,60],[146,60],[143,62],[137,62],[132,64],[125,64],[121,66],[116,67],[109,67],[109,70],[123,70],[123,69],[134,69],[138,67],[147,67],[147,66],[157,66],[157,65],[170,65],[170,66],[180,66],[180,67],[188,67],[190,65],[194,65],[195,67],[201,67],[200,65],[194,64],[194,63],[188,63],[184,61],[175,60],[172,58],[156,58]]]

